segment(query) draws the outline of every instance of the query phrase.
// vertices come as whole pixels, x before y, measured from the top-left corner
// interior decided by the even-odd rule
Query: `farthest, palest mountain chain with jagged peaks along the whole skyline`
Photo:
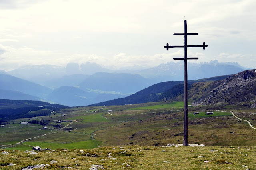
[[[68,63],[66,67],[45,64],[27,65],[7,73],[11,74],[12,76],[44,85],[46,81],[66,75],[92,75],[97,72],[139,74],[144,78],[154,78],[154,80],[156,80],[155,82],[164,82],[170,80],[174,81],[183,80],[183,70],[183,61],[178,63],[168,62],[166,64],[160,64],[159,66],[147,69],[141,66],[130,66],[122,67],[119,70],[104,68],[93,62],[86,62],[80,65],[78,63]],[[188,62],[188,80],[234,74],[243,70],[245,70],[245,68],[240,66],[237,62],[219,63],[217,60],[204,63]]]

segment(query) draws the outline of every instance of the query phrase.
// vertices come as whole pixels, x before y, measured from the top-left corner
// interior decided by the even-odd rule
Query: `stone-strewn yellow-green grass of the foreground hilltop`
[[[78,170],[89,169],[93,164],[102,165],[105,169],[134,170],[241,170],[256,169],[255,147],[143,147],[116,146],[95,149],[56,151],[36,151],[37,154],[21,151],[9,151],[0,154],[2,170],[17,170],[31,165],[49,164],[44,169],[61,169],[71,167]],[[212,151],[211,151],[212,150]],[[0,150],[2,152],[4,150]],[[51,164],[51,161],[57,161]],[[10,163],[16,164],[8,166]],[[246,166],[246,167],[242,167]]]

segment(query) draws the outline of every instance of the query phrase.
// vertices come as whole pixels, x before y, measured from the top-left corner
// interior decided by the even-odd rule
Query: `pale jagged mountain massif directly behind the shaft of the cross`
[[[235,74],[244,68],[238,63],[219,63],[217,60],[204,63],[188,62],[188,80]],[[138,74],[159,80],[184,80],[184,61],[168,62],[157,67],[142,70]]]

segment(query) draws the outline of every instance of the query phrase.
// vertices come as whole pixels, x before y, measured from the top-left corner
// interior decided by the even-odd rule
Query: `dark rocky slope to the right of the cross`
[[[212,83],[192,84],[189,97],[197,105],[238,104],[256,107],[256,70],[246,70]]]

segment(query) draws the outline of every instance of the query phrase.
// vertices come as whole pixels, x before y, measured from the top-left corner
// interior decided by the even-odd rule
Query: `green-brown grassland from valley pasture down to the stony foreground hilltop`
[[[207,111],[213,114],[206,115]],[[232,116],[230,111],[256,126],[253,108],[226,105],[188,108],[188,142],[205,144],[202,148],[161,147],[183,143],[183,102],[74,107],[48,116],[13,120],[0,128],[1,152],[9,152],[0,153],[0,169],[22,169],[50,164],[52,160],[58,163],[45,169],[88,169],[92,164],[103,165],[105,169],[208,170],[218,167],[236,170],[242,165],[255,169],[256,130]],[[46,125],[20,124],[28,119]],[[38,151],[35,155],[24,152],[32,150],[32,146],[55,151]],[[63,151],[66,149],[68,152]],[[211,152],[211,149],[218,151]],[[85,156],[79,150],[98,156]],[[122,154],[124,150],[127,154]],[[109,153],[116,159],[108,157]],[[16,165],[8,166],[11,163]]]

